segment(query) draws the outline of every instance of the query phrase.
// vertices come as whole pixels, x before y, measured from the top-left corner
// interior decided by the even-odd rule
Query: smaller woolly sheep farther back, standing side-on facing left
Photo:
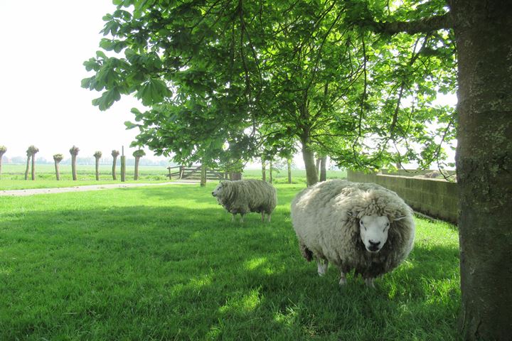
[[[270,215],[277,205],[277,195],[274,186],[262,180],[223,180],[213,190],[219,205],[235,215],[240,214],[240,222],[249,212],[261,212],[262,221],[270,222]]]

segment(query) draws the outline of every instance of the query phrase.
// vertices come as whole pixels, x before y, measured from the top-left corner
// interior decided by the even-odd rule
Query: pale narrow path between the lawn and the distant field
[[[49,193],[65,193],[65,192],[84,192],[86,190],[110,190],[112,188],[129,188],[144,186],[164,186],[164,185],[196,185],[198,181],[172,181],[168,183],[112,183],[105,185],[85,185],[75,187],[61,188],[30,188],[26,190],[0,190],[0,195],[23,196]]]

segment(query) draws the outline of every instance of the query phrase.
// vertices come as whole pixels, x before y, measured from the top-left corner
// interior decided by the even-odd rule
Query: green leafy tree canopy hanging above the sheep
[[[82,87],[102,110],[141,101],[134,146],[213,166],[299,148],[306,166],[318,151],[360,168],[427,166],[454,138],[454,110],[434,104],[456,86],[444,1],[114,4]]]

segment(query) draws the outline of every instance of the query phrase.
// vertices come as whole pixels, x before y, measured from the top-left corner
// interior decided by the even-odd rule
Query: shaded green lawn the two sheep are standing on
[[[0,197],[0,340],[457,340],[459,248],[417,220],[409,259],[366,288],[299,253],[277,185],[270,224],[215,183]]]

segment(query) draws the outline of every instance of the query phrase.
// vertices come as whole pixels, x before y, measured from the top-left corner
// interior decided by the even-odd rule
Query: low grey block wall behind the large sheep
[[[419,178],[404,175],[365,174],[347,171],[349,181],[377,183],[397,193],[417,212],[430,217],[457,223],[457,183],[444,179]]]

